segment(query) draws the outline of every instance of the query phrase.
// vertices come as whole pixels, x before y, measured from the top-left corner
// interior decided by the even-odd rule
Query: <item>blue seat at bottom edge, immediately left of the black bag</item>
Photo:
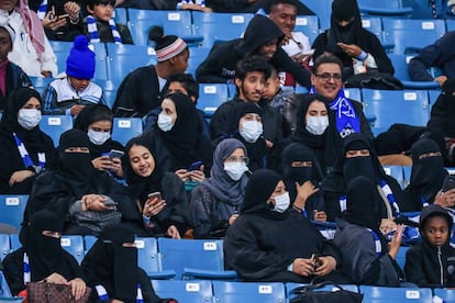
[[[287,302],[284,283],[212,281],[218,303],[276,303]]]

